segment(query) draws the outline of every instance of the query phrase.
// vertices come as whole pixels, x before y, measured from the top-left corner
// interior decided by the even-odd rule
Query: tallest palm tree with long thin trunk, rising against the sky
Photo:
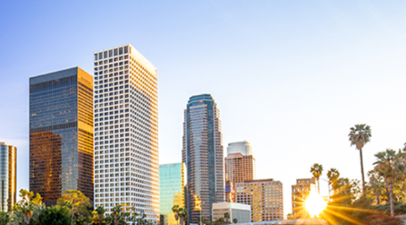
[[[359,150],[359,158],[361,159],[362,193],[365,195],[362,148],[371,140],[371,127],[367,126],[367,124],[355,124],[355,127],[350,128],[350,134],[348,134],[348,136],[350,137],[351,146],[355,145],[355,147]]]

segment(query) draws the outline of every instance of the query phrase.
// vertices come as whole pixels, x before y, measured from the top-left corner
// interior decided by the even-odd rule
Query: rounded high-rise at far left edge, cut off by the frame
[[[17,148],[0,142],[0,212],[11,212],[16,203]]]

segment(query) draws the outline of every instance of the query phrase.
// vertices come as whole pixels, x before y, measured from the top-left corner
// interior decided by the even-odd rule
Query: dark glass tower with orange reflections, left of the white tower
[[[30,191],[93,201],[93,77],[70,68],[30,78]]]

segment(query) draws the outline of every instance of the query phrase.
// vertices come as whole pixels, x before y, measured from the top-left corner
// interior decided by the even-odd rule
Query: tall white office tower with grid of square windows
[[[94,198],[159,219],[158,78],[130,44],[94,53]]]

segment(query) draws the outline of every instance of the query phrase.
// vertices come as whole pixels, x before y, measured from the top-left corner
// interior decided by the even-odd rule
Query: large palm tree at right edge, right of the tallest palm
[[[374,165],[376,171],[383,177],[386,185],[389,186],[389,201],[390,201],[390,215],[395,216],[393,206],[393,183],[398,179],[399,175],[405,170],[402,163],[403,154],[399,151],[396,153],[393,149],[386,149],[386,151],[375,154],[377,158]]]

